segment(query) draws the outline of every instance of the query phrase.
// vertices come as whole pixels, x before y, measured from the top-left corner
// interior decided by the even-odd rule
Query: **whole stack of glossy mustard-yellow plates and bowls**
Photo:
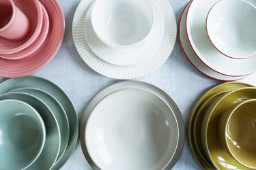
[[[190,148],[204,169],[256,169],[256,88],[225,83],[205,92],[188,120]]]

